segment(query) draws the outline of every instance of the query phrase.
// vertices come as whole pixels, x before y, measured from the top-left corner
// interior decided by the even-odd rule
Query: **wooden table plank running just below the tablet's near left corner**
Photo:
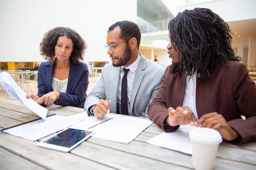
[[[88,159],[56,150],[36,146],[37,142],[0,133],[0,147],[27,159],[39,166],[52,170],[93,169],[112,170],[113,168],[95,163]],[[84,153],[86,154],[86,152]]]

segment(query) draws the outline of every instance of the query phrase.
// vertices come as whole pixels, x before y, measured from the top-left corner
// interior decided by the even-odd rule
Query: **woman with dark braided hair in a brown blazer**
[[[178,13],[168,30],[173,64],[148,117],[165,132],[190,124],[216,129],[233,144],[256,141],[256,86],[234,56],[228,24],[210,9],[195,8]]]

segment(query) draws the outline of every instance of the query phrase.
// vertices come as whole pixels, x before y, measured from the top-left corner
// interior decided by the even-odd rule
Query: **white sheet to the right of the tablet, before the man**
[[[149,119],[117,116],[90,129],[97,131],[93,137],[129,144],[151,124]]]

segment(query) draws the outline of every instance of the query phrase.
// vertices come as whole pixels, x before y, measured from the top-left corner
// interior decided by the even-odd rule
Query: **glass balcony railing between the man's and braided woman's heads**
[[[168,30],[168,24],[171,19],[159,20],[153,22],[147,22],[144,24],[138,24],[141,33],[150,33],[157,31],[166,31]]]

